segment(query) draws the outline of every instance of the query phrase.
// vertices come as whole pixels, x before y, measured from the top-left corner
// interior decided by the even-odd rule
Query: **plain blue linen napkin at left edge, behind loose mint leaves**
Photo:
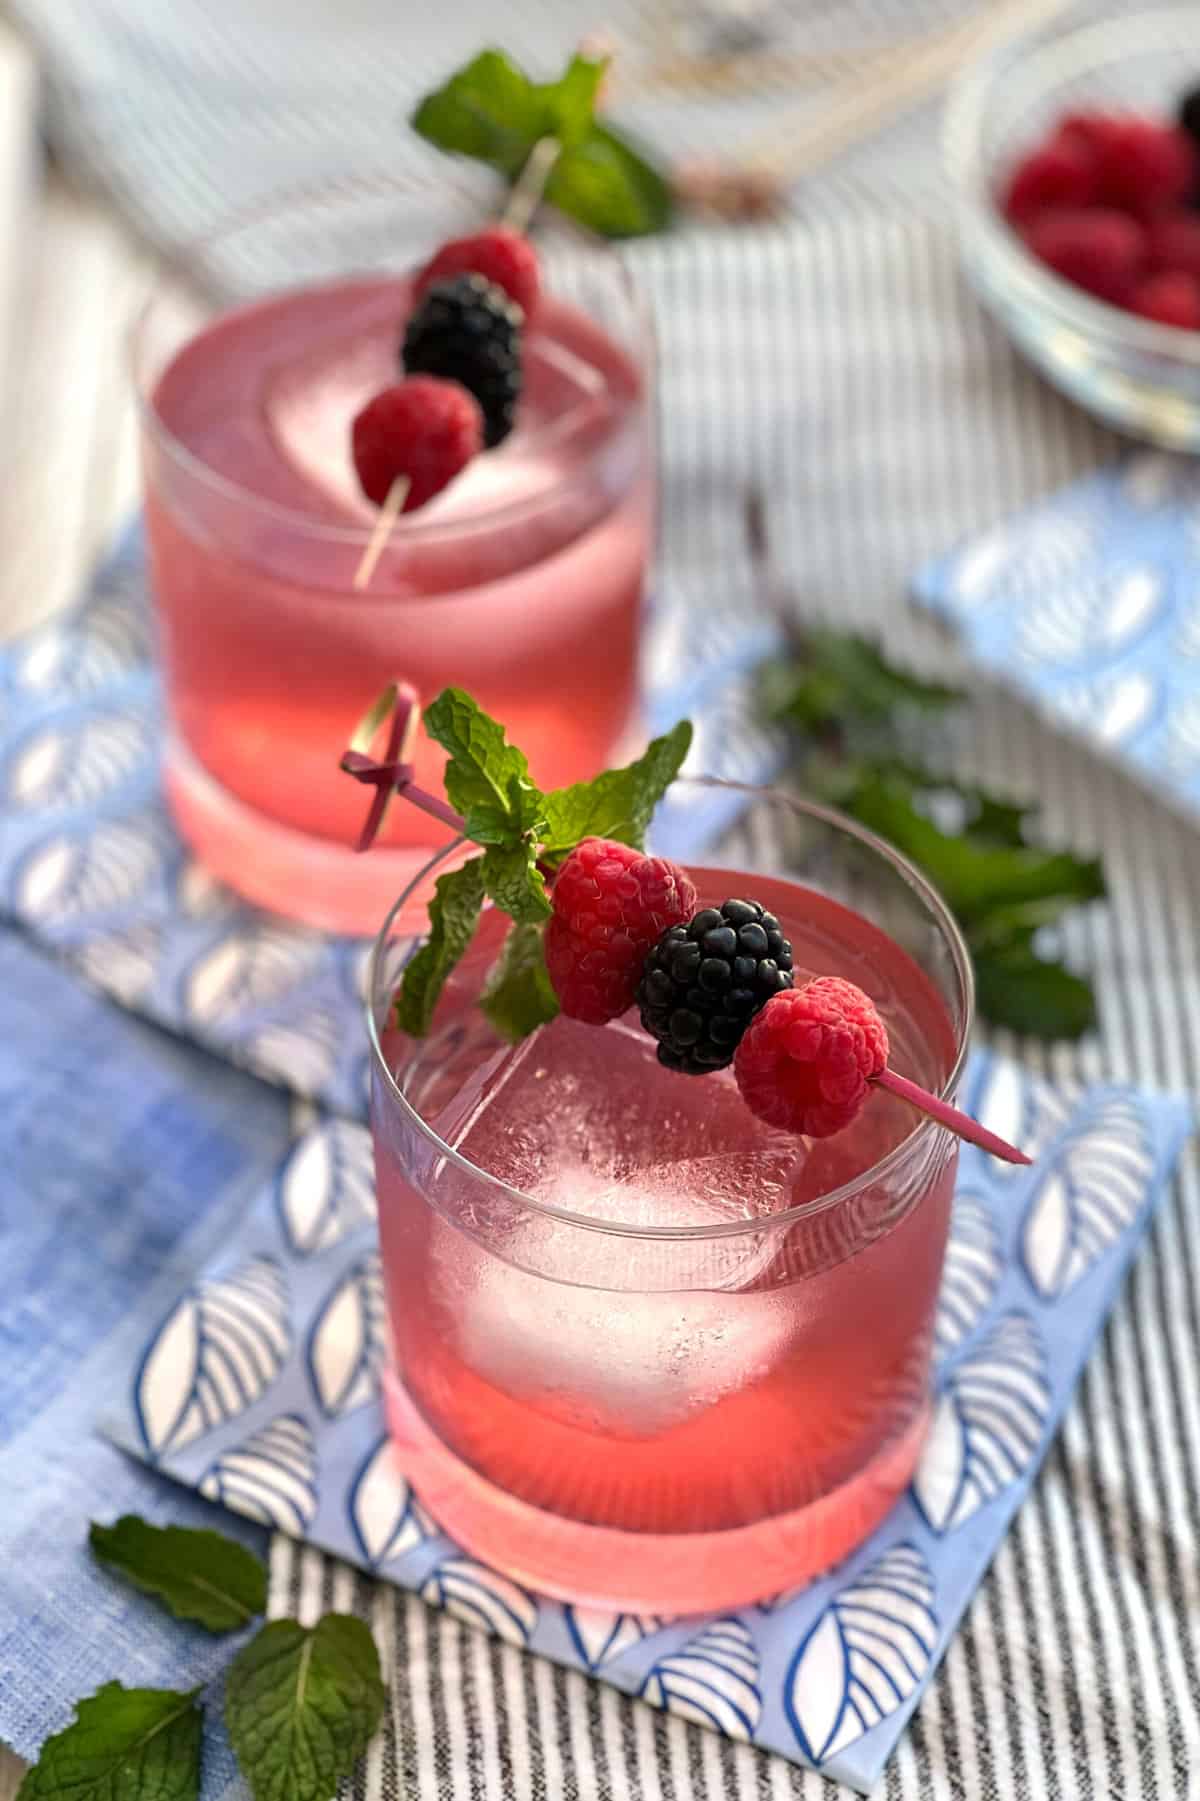
[[[14,933],[0,994],[0,1740],[32,1756],[101,1682],[191,1688],[229,1657],[88,1556],[92,1518],[222,1524],[114,1450],[95,1414],[290,1127],[283,1095],[88,994]],[[265,1549],[261,1527],[232,1529]],[[234,1763],[209,1713],[214,1801]]]

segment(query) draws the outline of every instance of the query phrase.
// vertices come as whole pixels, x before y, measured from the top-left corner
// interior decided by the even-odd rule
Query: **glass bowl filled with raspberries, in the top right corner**
[[[1013,40],[946,113],[966,272],[1110,425],[1200,452],[1200,4]]]

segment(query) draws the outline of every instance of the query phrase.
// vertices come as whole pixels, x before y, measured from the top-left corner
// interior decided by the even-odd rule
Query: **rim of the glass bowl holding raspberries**
[[[1114,61],[1123,50],[1146,54],[1146,31],[1155,23],[1195,27],[1196,11],[1182,5],[1150,7],[1124,18],[1072,25],[1068,31],[1032,31],[987,50],[950,92],[942,115],[942,158],[955,189],[960,231],[984,240],[1007,274],[1059,322],[1081,337],[1119,339],[1126,349],[1200,366],[1200,333],[1126,313],[1040,263],[993,204],[984,164],[987,108],[1005,76],[1027,85],[1031,97],[1045,97],[1067,72],[1061,67],[1065,61],[1068,67],[1086,68],[1101,59],[1092,56],[1095,50],[1112,52],[1103,61]]]

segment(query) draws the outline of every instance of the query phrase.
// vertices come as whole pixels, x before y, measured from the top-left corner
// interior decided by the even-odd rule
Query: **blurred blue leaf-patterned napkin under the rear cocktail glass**
[[[714,609],[712,630],[688,630],[683,603],[659,596],[647,639],[649,728],[690,713],[690,767],[769,780],[780,746],[746,690],[773,629],[750,630],[744,611],[724,629]],[[0,906],[126,1007],[362,1117],[368,946],[249,908],[195,863],[162,800],[160,717],[132,531],[72,618],[0,654]],[[676,800],[658,846],[683,855],[710,841],[735,805]]]

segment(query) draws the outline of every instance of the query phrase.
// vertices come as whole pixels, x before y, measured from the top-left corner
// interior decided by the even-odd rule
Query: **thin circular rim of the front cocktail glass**
[[[780,787],[764,787],[748,782],[726,782],[721,776],[703,776],[703,774],[677,776],[677,782],[681,785],[701,787],[701,789],[710,789],[710,787],[724,789],[726,792],[744,794],[751,800],[762,800],[768,796],[784,800],[787,801],[789,807],[795,807],[796,812],[802,812],[805,818],[816,819],[818,823],[831,827],[834,832],[841,832],[845,837],[858,839],[859,845],[863,845],[868,852],[872,852],[883,863],[886,863],[901,877],[901,881],[914,890],[917,899],[933,917],[946,944],[950,946],[955,976],[959,980],[962,994],[962,1023],[955,1028],[955,1059],[950,1068],[950,1073],[946,1075],[946,1081],[937,1091],[939,1099],[950,1100],[962,1077],[962,1070],[966,1066],[969,1050],[971,1028],[975,1025],[975,971],[971,965],[971,953],[968,951],[966,938],[962,937],[962,931],[953,913],[942,900],[937,888],[928,881],[928,877],[924,877],[921,870],[908,861],[908,857],[905,857],[899,850],[888,845],[886,839],[877,837],[867,827],[859,825],[856,819],[847,818],[836,809],[822,807],[818,801],[811,801],[800,794],[789,794],[786,789]],[[438,850],[429,859],[429,863],[418,872],[418,875],[413,877],[404,893],[393,902],[391,910],[387,911],[387,917],[375,937],[375,942],[371,946],[371,956],[368,960],[366,1019],[368,1019],[368,1037],[371,1043],[371,1061],[384,1077],[389,1100],[400,1108],[405,1118],[418,1129],[422,1138],[425,1138],[425,1142],[434,1147],[438,1158],[452,1163],[465,1176],[470,1176],[476,1181],[483,1181],[490,1192],[508,1201],[515,1201],[519,1207],[528,1207],[532,1212],[542,1214],[548,1219],[557,1219],[562,1225],[584,1228],[589,1232],[607,1232],[614,1237],[650,1239],[663,1243],[741,1237],[746,1232],[768,1232],[768,1230],[775,1232],[780,1228],[786,1230],[787,1226],[796,1225],[800,1219],[811,1219],[814,1214],[825,1212],[831,1207],[838,1207],[843,1201],[852,1199],[856,1194],[863,1194],[867,1189],[872,1189],[879,1181],[886,1180],[901,1163],[908,1162],[908,1158],[915,1154],[921,1144],[924,1144],[935,1133],[944,1131],[944,1127],[939,1126],[937,1120],[921,1115],[917,1117],[914,1129],[905,1138],[901,1138],[897,1145],[892,1145],[892,1149],[885,1156],[881,1156],[877,1163],[872,1163],[868,1169],[861,1171],[858,1176],[852,1176],[849,1181],[840,1183],[836,1189],[831,1189],[827,1194],[818,1194],[814,1199],[802,1201],[796,1207],[786,1207],[777,1214],[764,1214],[760,1219],[723,1219],[715,1225],[697,1225],[697,1226],[636,1226],[631,1225],[629,1221],[598,1219],[595,1214],[577,1214],[571,1212],[571,1208],[568,1207],[555,1207],[551,1201],[539,1201],[533,1196],[526,1194],[523,1189],[517,1189],[512,1183],[505,1181],[501,1176],[494,1176],[486,1169],[481,1169],[477,1163],[472,1163],[470,1158],[463,1156],[461,1151],[456,1151],[452,1145],[449,1145],[432,1129],[432,1126],[429,1126],[429,1122],[422,1118],[413,1102],[404,1095],[404,1091],[396,1084],[395,1075],[387,1068],[387,1059],[384,1057],[384,1046],[380,1045],[378,1027],[375,1023],[375,1005],[373,1005],[375,989],[380,974],[380,960],[387,951],[393,922],[396,920],[404,906],[409,902],[411,895],[418,890],[418,886],[422,886],[427,881],[429,873],[459,845],[465,843],[467,843],[465,837],[449,839],[441,846],[441,850]]]

